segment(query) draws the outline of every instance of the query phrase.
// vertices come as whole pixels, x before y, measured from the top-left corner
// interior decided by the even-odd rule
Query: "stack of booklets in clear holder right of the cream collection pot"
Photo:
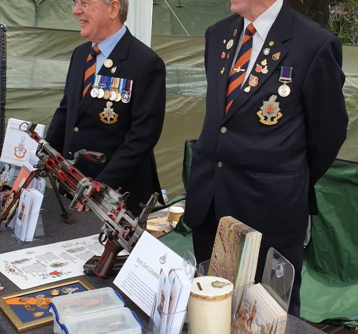
[[[231,334],[284,334],[286,319],[283,308],[261,284],[256,284],[246,290],[231,324]]]

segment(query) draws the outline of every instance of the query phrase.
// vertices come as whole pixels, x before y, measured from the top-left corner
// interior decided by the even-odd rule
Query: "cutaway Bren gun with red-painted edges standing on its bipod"
[[[77,203],[86,204],[91,211],[103,222],[99,242],[105,249],[94,268],[94,273],[103,279],[108,278],[118,253],[125,249],[131,252],[135,243],[146,228],[147,217],[158,200],[158,193],[149,198],[147,204],[140,204],[142,211],[139,217],[134,217],[131,211],[126,209],[126,200],[129,192],[121,194],[121,189],[113,190],[104,183],[97,182],[83,175],[74,164],[79,159],[86,159],[96,163],[103,163],[106,159],[103,153],[82,149],[73,154],[73,160],[66,160],[60,153],[50,146],[35,131],[36,123],[22,123],[20,129],[39,143],[36,155],[39,162],[35,166],[21,189],[26,188],[31,180],[36,177],[48,177],[56,193],[63,214],[63,219],[72,224],[73,221],[65,209],[59,195],[56,181],[69,194],[73,196],[70,208]],[[4,210],[1,212],[1,221],[7,220],[16,208],[20,198],[21,189],[10,195]]]

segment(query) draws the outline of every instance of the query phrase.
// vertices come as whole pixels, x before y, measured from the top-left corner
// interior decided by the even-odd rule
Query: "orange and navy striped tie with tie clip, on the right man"
[[[255,33],[256,29],[254,25],[250,23],[245,30],[244,39],[242,40],[239,53],[236,57],[235,65],[230,73],[226,90],[225,114],[227,114],[234,97],[240,91],[241,84],[244,81],[251,56],[252,37]]]

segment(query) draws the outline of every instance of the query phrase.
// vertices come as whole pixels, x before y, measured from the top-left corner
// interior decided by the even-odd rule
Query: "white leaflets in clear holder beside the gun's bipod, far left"
[[[33,241],[44,195],[36,189],[23,189],[15,216],[15,237]]]

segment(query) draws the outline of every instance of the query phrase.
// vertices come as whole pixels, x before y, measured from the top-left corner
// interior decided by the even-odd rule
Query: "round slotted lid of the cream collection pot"
[[[232,295],[233,284],[221,277],[201,276],[193,280],[190,296],[202,300],[223,300]]]

